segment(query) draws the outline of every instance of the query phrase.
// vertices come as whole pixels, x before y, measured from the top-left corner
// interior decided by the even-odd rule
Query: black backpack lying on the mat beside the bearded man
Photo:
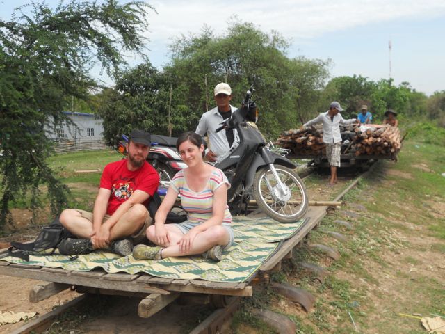
[[[63,227],[58,218],[54,218],[49,226],[44,226],[35,241],[29,243],[11,242],[8,255],[29,261],[29,255],[51,255],[54,253],[60,241],[74,237],[74,234]]]

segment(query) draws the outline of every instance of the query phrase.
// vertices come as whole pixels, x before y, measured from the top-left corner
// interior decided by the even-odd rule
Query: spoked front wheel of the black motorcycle
[[[258,207],[270,218],[280,223],[298,221],[307,212],[309,199],[305,184],[290,168],[274,165],[284,185],[280,188],[268,166],[257,171],[253,181],[253,197]]]

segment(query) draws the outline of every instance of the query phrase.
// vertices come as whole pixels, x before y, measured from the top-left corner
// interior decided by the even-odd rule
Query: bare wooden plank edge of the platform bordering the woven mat
[[[289,257],[293,248],[323,219],[326,208],[309,207],[306,217],[309,221],[290,239],[284,241],[277,252],[271,256],[257,273],[271,271],[280,267],[281,260]],[[21,264],[8,264],[0,261],[0,274],[46,280],[48,282],[89,287],[92,289],[115,290],[122,294],[160,294],[167,295],[170,292],[190,292],[198,294],[219,294],[226,296],[252,296],[252,280],[257,275],[252,275],[245,283],[209,282],[206,280],[181,280],[171,278],[159,278],[146,273],[130,275],[127,273],[106,273],[102,269],[93,271],[67,271],[58,268],[30,267]]]

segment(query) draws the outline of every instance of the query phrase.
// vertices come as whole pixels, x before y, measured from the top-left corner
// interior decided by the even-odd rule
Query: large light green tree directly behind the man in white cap
[[[213,87],[226,81],[232,87],[232,105],[239,106],[253,81],[254,98],[261,97],[259,128],[277,138],[296,127],[298,113],[310,109],[327,77],[328,62],[289,59],[288,43],[276,32],[264,33],[252,23],[232,22],[224,35],[204,26],[200,35],[182,36],[171,46],[172,58],[165,74],[177,79],[174,90],[182,104],[190,106],[195,129],[204,111],[213,108]]]

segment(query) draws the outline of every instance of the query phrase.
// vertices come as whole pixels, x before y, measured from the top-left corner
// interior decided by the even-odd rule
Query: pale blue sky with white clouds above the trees
[[[28,1],[0,0],[1,17]],[[147,1],[150,61],[161,68],[168,61],[168,45],[181,34],[200,33],[204,24],[224,34],[237,15],[268,33],[280,32],[291,42],[289,57],[332,60],[332,77],[359,74],[371,80],[391,77],[410,82],[428,95],[445,90],[444,0],[154,0]],[[58,1],[47,1],[55,6]],[[129,57],[130,64],[138,58]],[[96,76],[97,71],[95,71]],[[111,82],[102,78],[109,84]]]

